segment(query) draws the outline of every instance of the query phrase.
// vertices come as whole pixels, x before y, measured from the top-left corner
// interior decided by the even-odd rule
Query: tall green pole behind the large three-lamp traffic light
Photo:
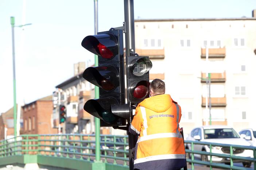
[[[94,34],[98,33],[98,0],[94,0]],[[94,55],[94,66],[98,66],[98,56]],[[99,98],[99,88],[95,86],[95,98]],[[95,120],[95,161],[100,162],[100,119]]]

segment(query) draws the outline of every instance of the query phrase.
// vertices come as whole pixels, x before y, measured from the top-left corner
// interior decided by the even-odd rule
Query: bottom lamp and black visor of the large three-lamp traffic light
[[[84,110],[103,120],[107,124],[114,122],[117,117],[111,112],[111,105],[118,104],[114,97],[88,100],[84,105]]]

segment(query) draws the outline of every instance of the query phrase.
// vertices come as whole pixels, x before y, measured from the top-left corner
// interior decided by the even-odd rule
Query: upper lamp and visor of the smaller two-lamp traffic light
[[[146,57],[136,58],[135,60],[132,60],[129,68],[134,76],[140,77],[152,68],[152,62]]]

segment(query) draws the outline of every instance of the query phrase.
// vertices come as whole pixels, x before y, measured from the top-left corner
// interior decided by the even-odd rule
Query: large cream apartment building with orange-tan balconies
[[[207,73],[212,125],[256,127],[255,30],[256,10],[250,18],[135,20],[136,53],[150,57],[150,79],[164,80],[181,105],[185,133],[209,124]]]

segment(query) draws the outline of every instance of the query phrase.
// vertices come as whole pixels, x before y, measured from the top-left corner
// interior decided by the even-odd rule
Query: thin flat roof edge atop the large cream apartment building
[[[198,19],[135,19],[135,22],[163,22],[163,21],[234,21],[234,20],[256,20],[256,17],[241,18],[198,18]]]

